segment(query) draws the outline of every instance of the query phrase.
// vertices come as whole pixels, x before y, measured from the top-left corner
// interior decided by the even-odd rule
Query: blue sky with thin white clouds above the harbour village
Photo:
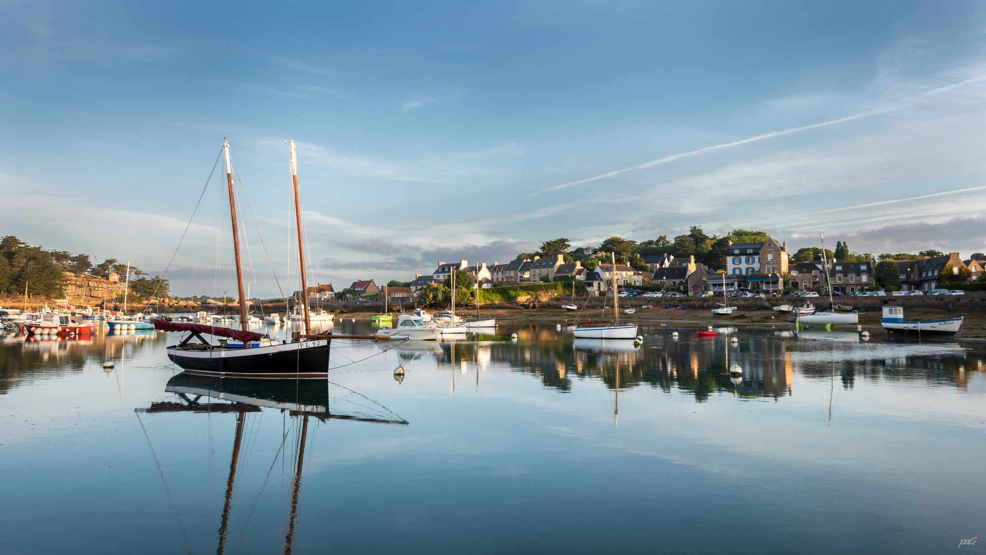
[[[160,273],[228,136],[282,281],[285,138],[316,278],[337,287],[690,225],[967,256],[986,251],[984,15],[975,2],[0,2],[0,233]],[[235,288],[222,185],[169,271],[176,292]]]

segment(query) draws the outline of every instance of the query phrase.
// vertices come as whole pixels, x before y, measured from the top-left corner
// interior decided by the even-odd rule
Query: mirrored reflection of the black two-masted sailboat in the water
[[[260,413],[264,409],[277,409],[287,412],[292,419],[292,427],[301,423],[293,444],[292,471],[294,477],[291,483],[291,512],[288,517],[288,529],[284,536],[284,553],[293,550],[295,537],[295,522],[298,517],[299,496],[301,493],[302,473],[305,468],[306,449],[308,445],[309,422],[315,419],[315,424],[327,419],[369,422],[376,424],[407,425],[407,421],[390,413],[381,405],[386,415],[373,415],[365,412],[365,406],[357,406],[356,411],[339,412],[329,406],[329,382],[319,379],[264,379],[249,378],[219,378],[181,372],[168,381],[165,391],[175,393],[177,401],[153,402],[150,408],[135,409],[138,418],[141,413],[202,413],[202,414],[236,414],[237,429],[233,441],[233,453],[230,459],[230,474],[226,481],[226,496],[223,503],[223,515],[220,519],[217,534],[216,553],[222,555],[228,547],[228,532],[230,514],[233,505],[233,491],[236,484],[237,468],[241,463],[241,447],[247,413]],[[350,394],[355,393],[347,390]],[[281,448],[288,437],[283,436]],[[313,441],[314,443],[314,441]],[[150,445],[150,437],[148,437]],[[246,449],[249,451],[250,449]],[[153,454],[153,450],[152,450]],[[278,455],[281,449],[278,449]],[[156,455],[155,455],[156,456]],[[247,455],[248,456],[248,455]],[[275,456],[275,461],[276,461]],[[262,492],[262,488],[261,488]],[[259,494],[257,494],[259,496]],[[247,518],[248,521],[248,518]],[[234,549],[235,551],[235,549]]]

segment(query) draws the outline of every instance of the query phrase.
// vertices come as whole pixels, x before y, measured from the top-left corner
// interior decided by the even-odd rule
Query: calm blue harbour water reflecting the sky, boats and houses
[[[986,343],[696,331],[336,341],[327,386],[293,394],[182,381],[166,334],[2,336],[4,552],[938,553],[986,532]],[[282,410],[322,399],[336,418]]]

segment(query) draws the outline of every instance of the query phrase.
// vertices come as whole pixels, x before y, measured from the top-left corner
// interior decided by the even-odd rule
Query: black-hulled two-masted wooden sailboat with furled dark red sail
[[[241,330],[200,324],[155,320],[154,326],[168,332],[188,332],[177,345],[167,348],[168,357],[192,374],[240,378],[318,378],[328,376],[329,340],[309,335],[312,323],[309,316],[308,282],[305,273],[305,241],[302,236],[301,199],[298,193],[298,157],[295,141],[290,141],[291,176],[294,181],[295,215],[298,228],[299,262],[302,291],[305,292],[305,333],[294,334],[292,341],[275,341],[269,336],[251,332],[246,318],[244,272],[240,257],[240,233],[237,226],[236,190],[233,184],[233,164],[230,143],[223,139],[226,161],[226,184],[230,192],[230,212],[233,220],[233,251],[240,287]],[[225,338],[213,345],[205,335]],[[196,340],[196,342],[192,342]]]

